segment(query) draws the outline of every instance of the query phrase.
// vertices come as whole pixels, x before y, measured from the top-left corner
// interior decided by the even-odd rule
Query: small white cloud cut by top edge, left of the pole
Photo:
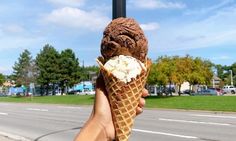
[[[79,7],[83,6],[86,0],[47,0],[47,1],[56,6]]]

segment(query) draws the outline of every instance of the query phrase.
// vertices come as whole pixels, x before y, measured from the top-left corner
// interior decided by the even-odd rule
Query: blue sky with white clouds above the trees
[[[126,0],[148,41],[148,56],[189,54],[213,63],[236,62],[236,0]],[[1,0],[0,73],[11,74],[19,54],[35,56],[47,43],[71,48],[95,65],[112,0]]]

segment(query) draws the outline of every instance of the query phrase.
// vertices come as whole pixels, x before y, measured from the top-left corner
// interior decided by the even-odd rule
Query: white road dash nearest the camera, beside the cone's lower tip
[[[156,131],[149,131],[149,130],[142,130],[142,129],[132,129],[132,130],[136,132],[166,135],[166,136],[173,136],[173,137],[186,138],[186,139],[198,139],[198,137],[194,137],[194,136],[186,136],[186,135],[179,135],[179,134],[172,134],[172,133],[165,133],[165,132],[156,132]]]

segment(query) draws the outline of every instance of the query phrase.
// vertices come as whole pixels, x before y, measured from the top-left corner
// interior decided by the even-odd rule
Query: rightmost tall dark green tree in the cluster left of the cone
[[[65,49],[61,52],[59,66],[59,81],[63,93],[65,87],[72,87],[74,84],[78,83],[80,78],[79,61],[71,49]]]

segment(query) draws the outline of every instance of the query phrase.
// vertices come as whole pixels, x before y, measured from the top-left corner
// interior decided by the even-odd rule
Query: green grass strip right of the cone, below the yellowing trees
[[[149,97],[146,107],[236,112],[236,96]]]

